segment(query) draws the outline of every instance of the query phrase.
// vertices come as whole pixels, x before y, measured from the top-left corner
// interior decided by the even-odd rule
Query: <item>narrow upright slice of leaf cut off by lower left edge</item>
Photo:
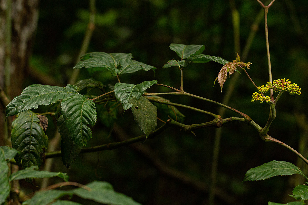
[[[0,204],[2,204],[10,194],[9,167],[3,149],[0,149],[0,170]]]

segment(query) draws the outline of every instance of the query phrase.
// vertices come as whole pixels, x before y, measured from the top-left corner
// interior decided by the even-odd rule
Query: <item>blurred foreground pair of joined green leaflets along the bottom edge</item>
[[[111,184],[107,182],[94,181],[86,184],[86,186],[87,188],[90,188],[90,191],[85,188],[77,188],[69,191],[39,191],[32,197],[32,199],[25,201],[22,205],[47,205],[64,195],[77,195],[83,199],[90,199],[103,204],[141,205],[140,203],[135,202],[132,198],[115,192]]]

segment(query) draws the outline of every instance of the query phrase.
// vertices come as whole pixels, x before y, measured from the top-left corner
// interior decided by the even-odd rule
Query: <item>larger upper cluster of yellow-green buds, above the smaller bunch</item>
[[[289,92],[290,95],[300,95],[302,94],[301,92],[301,88],[299,88],[299,86],[295,83],[291,83],[291,81],[289,81],[289,79],[278,79],[278,80],[274,80],[272,83],[271,82],[267,82],[266,85],[262,85],[261,87],[258,87],[258,91],[259,93],[266,93],[268,92],[270,89],[273,89],[274,92]]]

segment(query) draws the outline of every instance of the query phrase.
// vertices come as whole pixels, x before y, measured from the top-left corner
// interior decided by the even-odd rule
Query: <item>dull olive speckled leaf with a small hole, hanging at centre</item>
[[[157,126],[157,108],[143,96],[139,100],[132,98],[130,103],[132,103],[134,120],[144,132],[145,136],[148,137]]]

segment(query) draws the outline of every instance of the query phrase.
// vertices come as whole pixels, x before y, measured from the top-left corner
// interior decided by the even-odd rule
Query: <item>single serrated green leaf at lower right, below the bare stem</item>
[[[300,174],[307,177],[303,174],[303,172],[294,164],[290,162],[284,161],[271,161],[256,168],[249,169],[244,177],[243,181],[255,181],[261,179],[269,179],[273,176],[278,175],[292,175],[292,174]],[[308,180],[308,179],[307,179]]]

